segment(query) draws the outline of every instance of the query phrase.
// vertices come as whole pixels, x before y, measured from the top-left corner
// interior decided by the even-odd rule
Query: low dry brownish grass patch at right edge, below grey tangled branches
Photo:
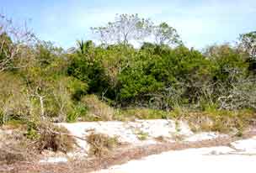
[[[243,130],[253,125],[256,114],[252,111],[211,110],[187,113],[184,117],[192,131],[216,131],[224,134],[242,135]]]

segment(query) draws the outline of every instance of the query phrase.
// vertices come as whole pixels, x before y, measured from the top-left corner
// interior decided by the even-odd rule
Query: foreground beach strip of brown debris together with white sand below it
[[[207,134],[207,135],[206,135]],[[212,139],[200,139],[208,136]],[[173,143],[120,148],[111,155],[85,160],[52,157],[40,162],[0,165],[2,173],[136,173],[136,172],[255,172],[256,131],[251,128],[243,139],[211,133],[192,134]],[[97,170],[97,171],[95,171]]]

